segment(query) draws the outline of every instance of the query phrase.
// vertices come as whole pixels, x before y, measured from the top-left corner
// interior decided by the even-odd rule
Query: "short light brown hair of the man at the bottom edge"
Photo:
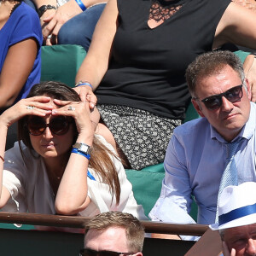
[[[131,253],[143,251],[144,227],[141,222],[130,213],[103,212],[91,218],[85,224],[85,236],[89,230],[104,231],[110,227],[125,229],[127,247]]]

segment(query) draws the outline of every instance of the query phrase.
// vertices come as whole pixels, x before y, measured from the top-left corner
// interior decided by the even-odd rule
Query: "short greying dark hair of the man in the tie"
[[[200,79],[218,74],[226,65],[229,65],[235,70],[241,78],[241,81],[244,81],[245,75],[242,63],[240,59],[229,50],[210,51],[197,56],[195,61],[190,63],[186,70],[186,80],[191,96],[196,97],[195,87]]]

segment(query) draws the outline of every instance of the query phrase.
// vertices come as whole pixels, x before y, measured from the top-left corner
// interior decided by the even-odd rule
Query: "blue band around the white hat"
[[[218,224],[222,225],[222,224],[228,223],[236,218],[245,217],[247,215],[251,215],[254,213],[256,213],[256,204],[246,206],[246,207],[237,208],[231,212],[227,212],[225,214],[218,216]],[[255,223],[256,223],[256,219],[255,219]]]

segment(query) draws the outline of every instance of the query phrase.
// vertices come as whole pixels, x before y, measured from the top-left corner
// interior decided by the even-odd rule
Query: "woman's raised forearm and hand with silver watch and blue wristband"
[[[90,119],[88,102],[65,102],[54,100],[62,108],[55,109],[53,115],[69,114],[75,120],[78,137],[73,145],[67,166],[61,177],[55,198],[55,210],[59,214],[73,215],[84,210],[89,204],[87,196],[87,170],[90,161],[95,125]],[[74,108],[71,112],[68,108]],[[73,129],[75,129],[73,125]]]

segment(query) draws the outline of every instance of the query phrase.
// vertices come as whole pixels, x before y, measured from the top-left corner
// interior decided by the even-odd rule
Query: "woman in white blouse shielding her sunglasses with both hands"
[[[95,134],[99,115],[65,84],[32,87],[0,116],[0,207],[5,211],[91,217],[130,212],[145,218],[113,148]],[[9,125],[19,143],[4,154]]]

